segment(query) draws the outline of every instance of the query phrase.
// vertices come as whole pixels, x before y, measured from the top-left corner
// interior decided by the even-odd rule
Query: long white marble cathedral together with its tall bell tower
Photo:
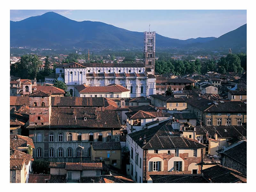
[[[143,63],[63,63],[56,67],[56,76],[67,84],[71,96],[78,96],[78,85],[118,84],[130,90],[130,98],[148,97],[156,94],[155,44],[156,32],[144,32]],[[45,83],[53,81],[45,78]]]

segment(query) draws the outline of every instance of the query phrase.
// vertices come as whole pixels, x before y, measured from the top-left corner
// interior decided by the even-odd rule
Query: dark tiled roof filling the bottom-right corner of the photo
[[[204,178],[207,178],[209,181],[211,180],[213,183],[247,182],[245,175],[222,165],[215,165],[213,167],[204,169],[201,172],[204,174]]]

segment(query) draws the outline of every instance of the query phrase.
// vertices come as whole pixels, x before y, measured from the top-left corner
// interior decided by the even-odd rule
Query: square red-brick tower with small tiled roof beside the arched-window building
[[[29,125],[43,125],[51,122],[51,94],[37,91],[29,96]]]

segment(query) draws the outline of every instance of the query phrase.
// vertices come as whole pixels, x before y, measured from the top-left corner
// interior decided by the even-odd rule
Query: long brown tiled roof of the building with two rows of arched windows
[[[84,120],[84,117],[87,117]],[[96,111],[95,108],[52,108],[50,125],[29,125],[34,128],[98,128],[120,129],[121,124],[115,111]]]

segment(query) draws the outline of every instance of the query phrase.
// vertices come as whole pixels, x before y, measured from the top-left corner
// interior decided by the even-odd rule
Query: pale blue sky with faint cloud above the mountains
[[[130,31],[150,31],[176,39],[219,37],[246,23],[246,10],[10,10],[20,21],[46,12],[71,20],[100,21]]]

